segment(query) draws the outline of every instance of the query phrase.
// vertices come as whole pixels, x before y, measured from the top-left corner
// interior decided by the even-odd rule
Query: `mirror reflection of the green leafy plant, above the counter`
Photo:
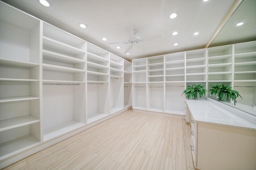
[[[228,100],[228,97],[230,97],[230,99],[233,99],[236,104],[236,98],[241,97],[238,91],[232,90],[232,87],[224,86],[223,83],[211,84],[210,87],[212,88],[209,90],[210,95],[218,95],[220,101],[225,99]]]

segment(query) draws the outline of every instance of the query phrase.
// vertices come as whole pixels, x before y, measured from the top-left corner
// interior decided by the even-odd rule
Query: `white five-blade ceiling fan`
[[[129,40],[128,42],[110,42],[108,44],[131,44],[125,51],[124,54],[127,53],[132,53],[132,48],[136,45],[143,51],[149,51],[152,50],[145,45],[144,43],[153,43],[162,40],[162,34],[159,34],[157,36],[151,36],[147,38],[143,38],[140,40],[140,37],[136,35],[137,30],[134,30],[133,27],[126,27],[126,31],[128,32],[129,35]]]

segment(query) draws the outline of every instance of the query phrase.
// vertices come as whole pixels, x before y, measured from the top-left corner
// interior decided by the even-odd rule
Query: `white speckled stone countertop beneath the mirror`
[[[224,109],[210,100],[186,99],[186,103],[196,122],[256,130],[254,123],[233,114],[228,108]]]

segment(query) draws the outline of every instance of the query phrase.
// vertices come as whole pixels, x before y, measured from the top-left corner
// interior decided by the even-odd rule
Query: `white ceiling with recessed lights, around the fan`
[[[234,4],[235,0],[49,0],[52,6],[42,6],[38,0],[3,0],[37,18],[94,43],[120,57],[135,58],[204,48]],[[172,12],[177,18],[170,19]],[[82,29],[78,23],[85,23]],[[134,47],[132,54],[124,51],[127,42],[126,26],[138,30],[141,39],[162,34],[163,40],[148,45],[144,52]],[[172,36],[177,31],[178,35]],[[194,32],[199,32],[194,36]],[[108,38],[102,41],[101,38]],[[174,46],[173,43],[179,45]],[[147,45],[147,44],[145,44]],[[161,48],[161,49],[155,49]]]

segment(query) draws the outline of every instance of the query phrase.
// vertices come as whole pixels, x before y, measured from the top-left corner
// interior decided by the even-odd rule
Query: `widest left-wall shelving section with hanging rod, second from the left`
[[[43,132],[46,141],[86,124],[86,42],[45,22],[42,42]]]

